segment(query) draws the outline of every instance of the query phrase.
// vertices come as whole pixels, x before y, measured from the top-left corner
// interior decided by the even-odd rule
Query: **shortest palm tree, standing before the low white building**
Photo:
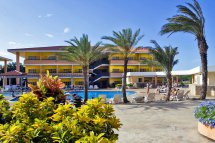
[[[178,59],[175,59],[175,56],[179,54],[178,48],[173,48],[172,46],[165,46],[161,48],[161,46],[154,40],[151,41],[155,48],[150,49],[151,54],[154,57],[154,60],[144,60],[141,63],[148,63],[153,66],[162,67],[167,79],[167,98],[166,101],[169,100],[172,88],[172,70],[173,67],[178,63]]]

